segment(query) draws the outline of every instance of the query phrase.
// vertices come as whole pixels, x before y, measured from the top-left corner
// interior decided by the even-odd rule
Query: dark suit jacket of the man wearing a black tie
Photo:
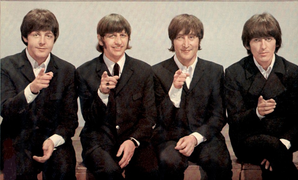
[[[111,76],[103,54],[76,70],[81,111],[85,120],[80,135],[81,140],[82,137],[88,139],[88,142],[82,142],[83,155],[107,143],[105,138],[121,144],[130,137],[140,143],[148,142],[151,137],[156,116],[151,66],[126,54],[125,58],[114,91],[115,105],[111,105],[111,94],[107,106],[97,94],[102,73],[107,71]],[[119,129],[116,129],[116,125]]]

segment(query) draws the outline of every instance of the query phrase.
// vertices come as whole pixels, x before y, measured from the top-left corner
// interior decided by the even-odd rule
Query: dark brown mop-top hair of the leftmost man
[[[34,9],[29,11],[21,25],[21,38],[24,44],[28,43],[24,41],[23,37],[27,38],[28,34],[32,31],[52,31],[54,34],[54,42],[56,42],[59,36],[59,24],[55,15],[46,9]]]

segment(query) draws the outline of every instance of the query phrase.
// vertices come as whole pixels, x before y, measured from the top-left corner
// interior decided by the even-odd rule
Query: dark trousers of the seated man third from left
[[[183,180],[188,161],[200,165],[208,179],[232,179],[232,161],[222,134],[200,143],[189,157],[174,149],[176,143],[167,141],[157,147],[161,179]]]

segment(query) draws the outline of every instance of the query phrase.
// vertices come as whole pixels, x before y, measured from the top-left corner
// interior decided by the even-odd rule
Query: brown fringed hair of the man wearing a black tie
[[[122,15],[119,14],[106,15],[97,24],[97,34],[100,35],[101,38],[103,38],[107,33],[120,33],[123,30],[127,33],[129,42],[131,34],[130,24]],[[102,43],[103,46],[105,46],[105,42],[102,41]],[[103,46],[98,43],[96,50],[103,52]],[[131,46],[127,44],[126,49],[131,49]]]

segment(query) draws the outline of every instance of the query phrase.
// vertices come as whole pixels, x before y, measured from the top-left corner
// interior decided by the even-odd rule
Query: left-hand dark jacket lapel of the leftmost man
[[[23,50],[19,59],[19,67],[20,72],[28,79],[28,81],[32,82],[35,79],[35,75],[32,69],[32,66],[29,62],[29,59],[26,55],[26,50]]]

